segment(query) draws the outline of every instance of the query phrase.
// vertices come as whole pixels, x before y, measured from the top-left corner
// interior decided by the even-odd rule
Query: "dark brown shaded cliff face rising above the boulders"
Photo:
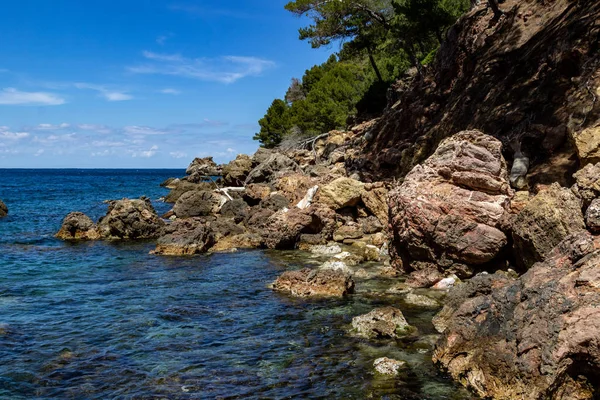
[[[600,117],[600,2],[507,0],[498,20],[482,3],[422,78],[398,83],[352,167],[403,177],[442,139],[479,129],[500,139],[509,163],[530,159],[530,186],[571,183],[574,138]]]

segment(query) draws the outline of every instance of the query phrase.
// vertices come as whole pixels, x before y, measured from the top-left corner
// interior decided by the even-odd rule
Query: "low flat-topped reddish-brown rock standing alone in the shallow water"
[[[272,288],[298,297],[342,297],[354,291],[354,281],[349,275],[340,271],[305,268],[300,271],[284,272],[273,283]]]

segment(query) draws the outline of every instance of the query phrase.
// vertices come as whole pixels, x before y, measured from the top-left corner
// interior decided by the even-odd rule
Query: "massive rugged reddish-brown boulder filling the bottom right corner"
[[[457,286],[434,323],[434,361],[482,398],[597,399],[600,237],[569,236],[519,279]]]

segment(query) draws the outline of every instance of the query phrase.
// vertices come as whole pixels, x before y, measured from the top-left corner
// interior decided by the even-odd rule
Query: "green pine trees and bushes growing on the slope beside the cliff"
[[[470,0],[294,0],[285,8],[311,23],[299,30],[313,47],[339,42],[339,54],[293,79],[254,136],[274,147],[290,132],[316,135],[344,128],[357,114],[373,116],[390,84],[410,66],[435,59],[445,30]],[[419,62],[419,60],[422,60]]]

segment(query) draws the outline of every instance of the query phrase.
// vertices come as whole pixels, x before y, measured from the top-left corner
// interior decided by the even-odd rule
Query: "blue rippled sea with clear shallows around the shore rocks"
[[[80,243],[52,235],[70,211],[93,219],[107,199],[153,200],[184,171],[0,170],[1,399],[470,399],[429,361],[434,311],[382,295],[394,281],[358,281],[344,300],[272,292],[298,252],[163,258],[152,243]],[[155,202],[157,211],[169,205]],[[348,335],[355,315],[393,304],[421,336]],[[408,362],[400,379],[375,358]]]

